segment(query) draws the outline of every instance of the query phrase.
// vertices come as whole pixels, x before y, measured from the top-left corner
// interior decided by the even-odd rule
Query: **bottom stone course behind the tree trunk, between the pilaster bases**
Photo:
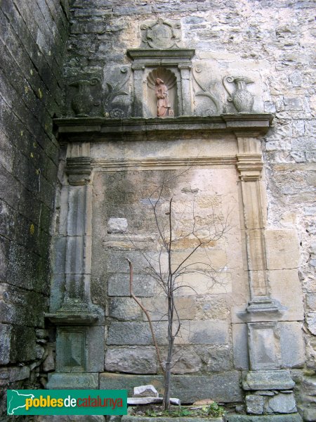
[[[129,396],[133,395],[135,385],[152,384],[162,395],[162,376],[121,375],[115,373],[100,374],[100,388],[127,388]],[[197,399],[213,397],[217,402],[239,402],[242,392],[239,388],[239,373],[227,371],[209,376],[177,376],[171,378],[171,393],[178,397],[181,403],[193,403]]]

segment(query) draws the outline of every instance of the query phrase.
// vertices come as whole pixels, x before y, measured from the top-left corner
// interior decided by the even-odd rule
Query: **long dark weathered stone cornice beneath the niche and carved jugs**
[[[269,113],[236,113],[218,116],[180,116],[170,118],[65,117],[55,119],[62,142],[97,142],[105,140],[143,140],[168,135],[168,139],[201,134],[242,134],[259,136],[268,132],[273,116]],[[162,138],[160,138],[162,139]]]

